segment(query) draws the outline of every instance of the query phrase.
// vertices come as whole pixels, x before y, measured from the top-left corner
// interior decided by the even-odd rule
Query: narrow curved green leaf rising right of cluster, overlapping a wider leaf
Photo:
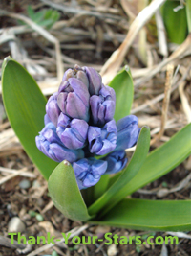
[[[92,204],[88,211],[91,215],[95,215],[101,210],[99,216],[104,215],[112,207],[114,207],[118,201],[126,197],[126,193],[122,188],[130,182],[130,180],[138,174],[138,171],[144,163],[147,153],[150,147],[150,131],[149,128],[142,128],[138,137],[138,144],[136,151],[134,152],[132,159],[125,168],[125,170],[118,177],[117,181],[107,190],[101,198],[98,198],[94,204]],[[104,209],[102,209],[104,207]]]

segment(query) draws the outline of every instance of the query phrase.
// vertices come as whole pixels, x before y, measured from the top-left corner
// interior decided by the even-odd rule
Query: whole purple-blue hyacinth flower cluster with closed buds
[[[115,107],[114,89],[102,83],[94,68],[78,65],[65,72],[46,105],[36,146],[56,162],[68,160],[80,190],[96,185],[101,175],[122,170],[125,149],[137,143],[138,118],[129,115],[116,123]]]

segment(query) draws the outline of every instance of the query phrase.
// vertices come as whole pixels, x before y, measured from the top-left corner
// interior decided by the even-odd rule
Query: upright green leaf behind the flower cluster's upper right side
[[[116,111],[114,118],[116,122],[129,115],[134,99],[134,83],[131,71],[125,66],[117,73],[117,76],[109,83],[116,92]]]

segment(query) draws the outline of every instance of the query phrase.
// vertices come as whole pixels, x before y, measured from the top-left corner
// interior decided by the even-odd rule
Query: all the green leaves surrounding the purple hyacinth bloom
[[[189,156],[191,124],[148,155],[150,133],[148,128],[142,128],[128,166],[112,177],[103,175],[95,187],[86,190],[90,192],[87,200],[90,207],[87,208],[72,166],[67,161],[57,165],[35,146],[35,136],[44,127],[46,105],[36,82],[12,58],[5,59],[2,75],[3,100],[11,127],[32,162],[46,179],[49,178],[53,203],[66,217],[75,221],[144,230],[180,231],[191,228],[191,200],[126,199],[138,188],[173,170]],[[118,120],[130,113],[133,101],[130,71],[122,69],[110,86],[117,92],[119,103],[115,118]],[[87,193],[84,195],[87,196]]]

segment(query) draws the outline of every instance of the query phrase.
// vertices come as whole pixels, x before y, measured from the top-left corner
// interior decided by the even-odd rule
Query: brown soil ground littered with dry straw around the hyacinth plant
[[[49,36],[39,34],[28,26],[21,24],[23,16],[28,16],[27,8],[32,5],[35,12],[43,9],[57,10],[59,21],[48,30],[59,41],[50,42]],[[64,9],[63,9],[64,7]],[[127,6],[129,8],[129,6]],[[138,10],[132,4],[131,11],[136,16]],[[9,55],[22,63],[38,82],[43,93],[49,97],[56,91],[60,70],[59,61],[64,68],[73,67],[75,63],[89,65],[102,69],[124,41],[131,29],[132,16],[127,13],[124,1],[6,1],[0,3],[0,62]],[[86,11],[84,13],[84,11]],[[12,14],[14,14],[12,16]],[[15,15],[16,14],[16,15]],[[133,15],[132,14],[132,15]],[[185,105],[191,102],[191,65],[189,48],[179,55],[177,45],[167,43],[167,56],[162,56],[159,50],[158,26],[152,18],[144,26],[145,56],[138,51],[139,35],[131,43],[125,54],[122,65],[128,64],[135,82],[135,101],[132,113],[138,116],[139,126],[151,128],[151,151],[165,143],[180,128],[189,123],[189,111]],[[190,45],[188,43],[188,45]],[[186,48],[187,47],[187,48]],[[59,50],[56,50],[59,49]],[[189,50],[189,51],[187,51]],[[171,61],[171,56],[175,58]],[[61,57],[61,58],[59,58]],[[61,60],[60,60],[61,59]],[[168,64],[161,65],[165,59]],[[116,60],[117,61],[117,60]],[[153,69],[156,72],[150,76]],[[152,71],[152,72],[151,72]],[[169,81],[169,76],[173,80]],[[106,79],[109,79],[109,77]],[[165,108],[163,98],[165,90],[171,86],[170,102]],[[168,89],[169,90],[169,89]],[[164,94],[163,94],[164,93]],[[164,95],[164,96],[162,96]],[[1,97],[1,96],[0,96]],[[164,109],[164,111],[162,111]],[[165,112],[166,111],[166,112]],[[167,119],[165,119],[165,115]],[[165,125],[163,132],[162,122]],[[159,135],[159,137],[157,137]],[[179,147],[179,146],[178,146]],[[128,152],[131,157],[132,152]],[[17,171],[27,168],[27,172],[18,175]],[[134,193],[132,198],[149,199],[190,199],[191,198],[191,157],[186,159],[172,172],[160,177]],[[185,179],[187,180],[185,182]],[[23,185],[26,185],[26,188]],[[180,185],[180,186],[178,186]],[[175,188],[174,192],[162,195],[162,189]],[[159,194],[160,192],[160,194]],[[22,246],[6,244],[5,238],[9,233],[9,222],[12,217],[19,217],[24,223],[22,234],[25,236],[42,236],[51,232],[55,238],[61,238],[61,233],[74,228],[83,227],[79,236],[96,236],[100,238],[107,232],[118,236],[140,235],[146,239],[150,235],[165,237],[165,232],[149,232],[122,229],[109,226],[85,225],[80,221],[70,221],[54,206],[49,197],[47,182],[33,166],[21,144],[11,129],[0,98],[0,256],[14,255],[97,255],[97,256],[189,256],[191,255],[191,232],[187,237],[179,236],[179,244],[149,245],[105,245],[104,242],[95,245],[55,244],[50,248],[44,245]],[[78,230],[78,229],[77,229]],[[169,230],[170,231],[170,230]],[[185,234],[185,233],[184,233]],[[2,243],[2,241],[5,241]],[[24,248],[25,247],[25,248]],[[33,253],[33,254],[32,254]],[[55,254],[57,253],[57,254]]]

